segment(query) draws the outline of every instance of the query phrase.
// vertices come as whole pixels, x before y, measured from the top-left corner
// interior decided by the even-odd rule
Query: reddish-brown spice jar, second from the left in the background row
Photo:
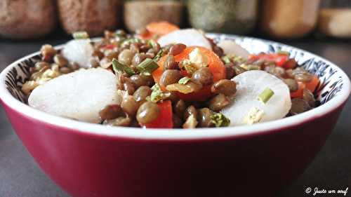
[[[58,0],[60,20],[67,34],[86,31],[89,36],[116,29],[122,0]]]

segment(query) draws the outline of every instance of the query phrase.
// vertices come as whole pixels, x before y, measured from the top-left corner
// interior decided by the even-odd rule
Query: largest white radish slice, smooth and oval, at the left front
[[[98,123],[99,111],[117,104],[116,84],[116,76],[106,69],[81,69],[38,86],[28,103],[48,114]]]

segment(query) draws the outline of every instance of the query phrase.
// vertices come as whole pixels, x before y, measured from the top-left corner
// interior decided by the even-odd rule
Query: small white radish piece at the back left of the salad
[[[75,39],[66,43],[62,55],[70,62],[76,62],[82,68],[91,67],[94,48],[89,39]]]

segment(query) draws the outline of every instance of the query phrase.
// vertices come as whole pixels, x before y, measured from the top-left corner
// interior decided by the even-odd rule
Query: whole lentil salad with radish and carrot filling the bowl
[[[231,40],[166,22],[152,31],[86,32],[42,60],[22,86],[28,104],[78,121],[143,128],[251,125],[315,107],[319,79],[289,53],[249,54]],[[170,27],[170,28],[167,28]]]

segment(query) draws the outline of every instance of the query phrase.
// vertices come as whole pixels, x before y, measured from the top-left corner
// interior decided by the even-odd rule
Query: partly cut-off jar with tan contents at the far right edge
[[[318,30],[326,36],[351,38],[351,1],[322,1]]]

